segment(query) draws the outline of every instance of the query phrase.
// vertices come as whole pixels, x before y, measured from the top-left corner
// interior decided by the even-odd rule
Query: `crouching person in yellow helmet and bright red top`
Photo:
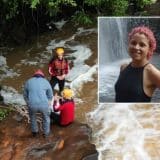
[[[75,103],[73,100],[73,91],[65,88],[62,91],[62,97],[55,95],[51,121],[60,126],[68,126],[74,121]],[[56,112],[59,112],[57,114]]]

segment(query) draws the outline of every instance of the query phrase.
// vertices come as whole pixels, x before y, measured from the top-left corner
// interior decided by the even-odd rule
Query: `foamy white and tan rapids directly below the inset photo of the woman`
[[[159,160],[159,104],[101,104],[88,114],[99,160]]]

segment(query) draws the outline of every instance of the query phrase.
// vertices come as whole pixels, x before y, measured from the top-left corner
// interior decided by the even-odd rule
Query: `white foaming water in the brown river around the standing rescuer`
[[[77,32],[67,39],[60,40],[60,41],[57,41],[56,39],[51,40],[48,46],[46,46],[46,50],[36,53],[34,57],[33,56],[31,57],[30,50],[27,50],[26,51],[27,58],[21,59],[20,63],[17,66],[19,67],[22,65],[37,66],[40,64],[41,67],[44,67],[44,65],[46,65],[49,62],[50,58],[52,57],[52,50],[58,46],[63,46],[65,48],[72,50],[73,53],[71,54],[71,56],[74,57],[74,60],[73,60],[74,67],[70,70],[68,76],[66,77],[68,81],[67,85],[69,85],[75,91],[80,91],[83,83],[88,81],[94,81],[92,76],[97,72],[97,65],[95,64],[93,66],[89,66],[85,64],[85,60],[87,60],[92,55],[90,48],[88,48],[86,45],[77,44],[77,43],[75,45],[73,44],[70,45],[68,42],[74,41],[74,38],[76,36],[87,35],[95,32],[96,32],[96,29],[85,30],[83,28],[78,28]],[[9,70],[9,68],[7,67],[5,57],[3,57],[3,59],[1,58],[1,61],[2,62],[0,62],[0,64],[3,64],[3,67]],[[15,71],[16,72],[12,73],[11,75],[12,77],[18,76],[19,74],[17,72],[21,72],[20,70],[17,70],[17,69],[15,69]],[[22,94],[19,94],[17,91],[11,88],[12,87],[4,86],[4,89],[1,92],[2,96],[4,97],[5,103],[23,106],[25,102]],[[80,102],[80,100],[77,100],[77,101]]]

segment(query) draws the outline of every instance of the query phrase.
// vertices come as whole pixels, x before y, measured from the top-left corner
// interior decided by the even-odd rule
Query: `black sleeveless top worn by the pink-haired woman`
[[[143,67],[132,67],[131,63],[120,72],[115,84],[116,102],[150,102],[143,89]]]

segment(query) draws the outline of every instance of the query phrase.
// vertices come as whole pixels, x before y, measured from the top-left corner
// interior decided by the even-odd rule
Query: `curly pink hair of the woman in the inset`
[[[150,50],[148,52],[147,58],[150,59],[154,53],[154,50],[156,49],[156,39],[154,37],[154,33],[148,27],[145,26],[135,27],[128,35],[129,41],[131,40],[132,36],[136,33],[144,34],[148,38]]]

